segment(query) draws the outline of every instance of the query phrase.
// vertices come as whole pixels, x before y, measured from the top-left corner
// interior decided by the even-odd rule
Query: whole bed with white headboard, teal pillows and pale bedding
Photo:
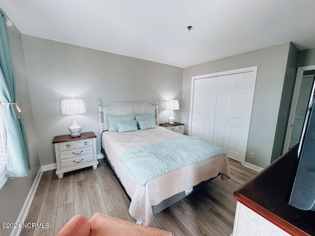
[[[178,153],[188,153],[184,155],[188,156],[187,159],[190,160],[189,149],[194,150],[194,152],[196,150],[202,152],[206,151],[207,148],[212,148],[208,147],[212,144],[156,125],[158,107],[158,100],[155,105],[148,102],[126,102],[112,103],[106,107],[101,106],[100,99],[97,102],[98,128],[101,135],[102,153],[130,200],[130,215],[137,220],[137,223],[144,225],[152,225],[154,214],[183,199],[213,178],[218,176],[221,176],[222,179],[229,178],[226,152],[220,152],[222,148],[220,149],[218,146],[220,151],[219,149],[219,152],[214,151],[215,156],[212,158],[196,158],[197,160],[193,160],[193,163],[185,162],[185,158],[182,161]],[[132,114],[139,115],[138,118],[148,115],[151,119],[154,114],[156,126],[143,130],[137,129],[137,131],[132,132],[108,132],[112,126],[108,124],[107,118],[109,120],[113,116],[127,117]],[[145,121],[148,120],[145,119]],[[109,123],[112,123],[112,121],[109,120]],[[124,122],[118,122],[117,124],[121,123]],[[143,123],[141,121],[141,124]],[[138,124],[140,124],[140,121],[138,121]],[[203,142],[200,145],[206,146],[196,148],[200,142]],[[193,147],[190,147],[190,145],[193,145]],[[158,163],[153,168],[154,171],[152,171],[158,172],[154,173],[155,177],[151,176],[151,169],[150,171],[144,169],[143,166],[146,165],[146,161],[150,158],[144,156],[143,153],[146,153],[148,156],[152,153],[159,153],[158,156],[150,156],[153,162],[157,161]],[[169,157],[170,159],[163,159],[163,156],[167,156],[166,158]],[[138,159],[133,161],[133,158]],[[131,165],[127,166],[126,163],[130,161]],[[180,163],[182,167],[176,166],[178,163],[175,163],[175,167],[173,167],[174,162],[183,162]],[[151,163],[148,164],[148,166],[150,165]],[[169,170],[163,173],[161,169],[163,171],[164,169]],[[134,173],[134,171],[138,172]],[[139,173],[141,172],[145,172],[145,175],[139,178]],[[146,175],[146,173],[150,173],[150,175]]]

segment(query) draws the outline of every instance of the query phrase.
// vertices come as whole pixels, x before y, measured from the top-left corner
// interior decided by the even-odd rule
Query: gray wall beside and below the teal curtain
[[[16,101],[22,110],[21,116],[25,124],[29,142],[32,169],[27,177],[9,179],[0,189],[1,223],[16,222],[40,166],[21,33],[13,26],[8,27],[8,34],[15,71]],[[10,235],[11,230],[1,230],[4,236]]]

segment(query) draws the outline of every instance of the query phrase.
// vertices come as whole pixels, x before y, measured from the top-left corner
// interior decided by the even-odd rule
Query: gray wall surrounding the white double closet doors
[[[290,43],[184,68],[182,122],[188,133],[191,76],[258,65],[246,162],[270,164]],[[256,153],[251,159],[250,152]]]

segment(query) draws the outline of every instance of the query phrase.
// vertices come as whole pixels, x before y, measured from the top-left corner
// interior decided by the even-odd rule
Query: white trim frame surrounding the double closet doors
[[[192,130],[191,125],[192,125],[192,110],[193,110],[193,98],[194,98],[194,84],[195,84],[195,80],[209,78],[209,77],[225,76],[225,75],[231,75],[231,74],[254,72],[254,78],[255,78],[254,87],[255,87],[256,78],[257,78],[257,68],[258,68],[258,66],[256,65],[256,66],[245,67],[245,68],[240,68],[240,69],[226,70],[226,71],[215,72],[215,73],[210,73],[210,74],[203,74],[203,75],[192,76],[191,77],[191,87],[190,87],[188,135],[191,136],[191,130]],[[254,88],[254,90],[255,90],[255,88]],[[254,92],[254,90],[253,90],[253,92]],[[251,116],[252,116],[252,113],[251,113]],[[250,124],[249,124],[249,126],[250,126]],[[245,156],[244,156],[244,160],[242,161],[242,165],[244,165],[244,163],[245,163]]]

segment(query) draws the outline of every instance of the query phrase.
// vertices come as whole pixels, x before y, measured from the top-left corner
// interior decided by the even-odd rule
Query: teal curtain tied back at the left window
[[[10,53],[6,18],[0,11],[0,102],[1,143],[6,154],[8,177],[25,177],[29,173],[29,149],[20,109],[15,100],[15,79]]]

